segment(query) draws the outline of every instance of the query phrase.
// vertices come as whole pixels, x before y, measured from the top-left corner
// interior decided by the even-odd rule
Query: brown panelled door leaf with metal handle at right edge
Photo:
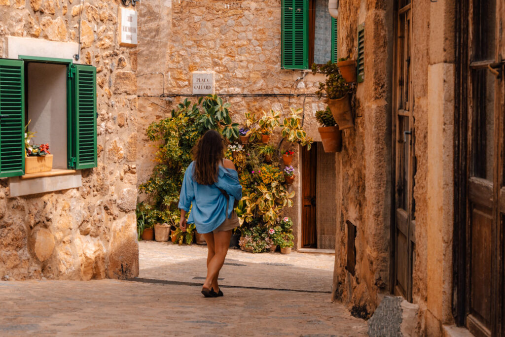
[[[466,65],[466,317],[477,336],[503,332],[503,2],[470,0]]]

